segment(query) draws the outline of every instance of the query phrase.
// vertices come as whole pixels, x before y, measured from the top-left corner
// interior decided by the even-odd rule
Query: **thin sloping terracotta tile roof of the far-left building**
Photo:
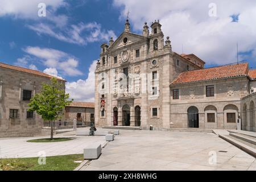
[[[43,72],[39,72],[39,71],[36,71],[34,69],[28,69],[28,68],[22,68],[22,67],[17,67],[17,66],[14,66],[14,65],[10,65],[10,64],[5,64],[5,63],[1,63],[0,62],[0,68],[5,68],[5,69],[11,69],[13,71],[18,71],[18,72],[24,72],[24,73],[29,73],[31,75],[35,75],[35,76],[43,76],[43,77],[48,77],[48,78],[52,78],[53,76],[51,75],[48,75],[46,73],[43,73]],[[57,77],[56,77],[57,78]],[[58,80],[63,80],[61,78],[57,78]],[[63,80],[65,81],[65,80]]]

